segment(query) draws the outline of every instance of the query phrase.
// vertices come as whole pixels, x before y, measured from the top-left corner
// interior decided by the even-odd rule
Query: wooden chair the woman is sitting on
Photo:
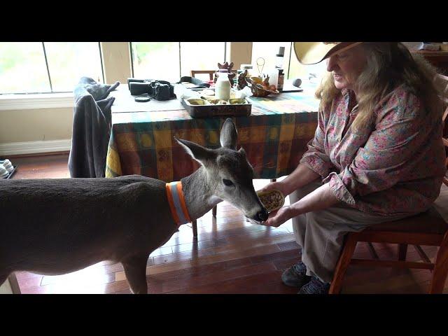
[[[435,81],[444,87],[442,100],[445,111],[443,114],[444,132],[443,143],[448,148],[448,77],[437,74]],[[446,149],[445,148],[445,149]],[[448,167],[448,158],[447,158]],[[443,183],[448,186],[448,179],[444,177]],[[358,241],[368,244],[373,259],[352,259]],[[398,260],[379,260],[372,243],[398,244]],[[423,262],[406,261],[407,246],[411,244],[416,248]],[[431,262],[424,253],[423,246],[439,246],[435,262]],[[448,274],[448,223],[437,212],[435,207],[428,211],[402,219],[372,225],[362,232],[350,232],[346,235],[342,253],[336,265],[335,274],[330,285],[330,294],[337,294],[342,288],[344,274],[349,265],[383,266],[400,268],[429,269],[433,273],[428,293],[442,293]]]

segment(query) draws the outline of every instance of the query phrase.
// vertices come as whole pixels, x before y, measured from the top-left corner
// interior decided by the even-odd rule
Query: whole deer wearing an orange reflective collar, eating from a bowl
[[[180,183],[140,175],[0,181],[0,284],[12,272],[60,275],[112,260],[123,265],[132,293],[146,294],[149,255],[182,223],[222,201],[255,223],[267,220],[231,118],[220,148],[174,139],[200,163]]]

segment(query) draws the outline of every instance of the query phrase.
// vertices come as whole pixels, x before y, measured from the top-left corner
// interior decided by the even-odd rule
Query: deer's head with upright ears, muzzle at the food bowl
[[[232,119],[225,120],[221,128],[221,148],[209,149],[191,141],[176,140],[205,171],[207,190],[198,192],[229,202],[255,221],[267,220],[267,210],[253,188],[253,168],[244,149],[237,151],[237,128]]]

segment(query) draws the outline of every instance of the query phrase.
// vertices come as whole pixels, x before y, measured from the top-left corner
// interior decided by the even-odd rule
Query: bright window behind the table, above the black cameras
[[[190,70],[214,70],[225,62],[225,42],[132,42],[135,78],[179,81]]]

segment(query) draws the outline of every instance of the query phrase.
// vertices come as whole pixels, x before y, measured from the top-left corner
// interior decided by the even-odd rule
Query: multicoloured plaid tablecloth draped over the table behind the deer
[[[251,116],[232,118],[237,148],[246,151],[255,179],[276,179],[297,167],[316,130],[318,101],[312,94],[251,97]],[[219,148],[224,120],[191,118],[186,110],[113,113],[106,177],[139,174],[179,181],[199,164],[174,137]]]

